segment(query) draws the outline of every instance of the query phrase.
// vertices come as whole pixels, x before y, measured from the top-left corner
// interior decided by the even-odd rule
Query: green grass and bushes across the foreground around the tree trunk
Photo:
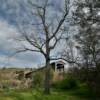
[[[7,69],[6,69],[7,70]],[[0,100],[99,100],[99,95],[88,87],[86,83],[79,82],[72,74],[65,74],[64,79],[53,83],[51,94],[43,94],[41,71],[35,74],[35,85],[31,89],[12,89],[7,87],[0,89]],[[74,73],[73,73],[74,74]],[[34,83],[34,82],[33,82]]]

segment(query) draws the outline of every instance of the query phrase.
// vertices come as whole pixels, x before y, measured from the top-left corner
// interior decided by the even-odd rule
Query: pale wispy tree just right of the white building
[[[61,58],[67,61],[71,66],[79,66],[80,65],[80,58],[75,48],[75,40],[73,39],[66,39],[66,45],[64,50],[61,53]]]

